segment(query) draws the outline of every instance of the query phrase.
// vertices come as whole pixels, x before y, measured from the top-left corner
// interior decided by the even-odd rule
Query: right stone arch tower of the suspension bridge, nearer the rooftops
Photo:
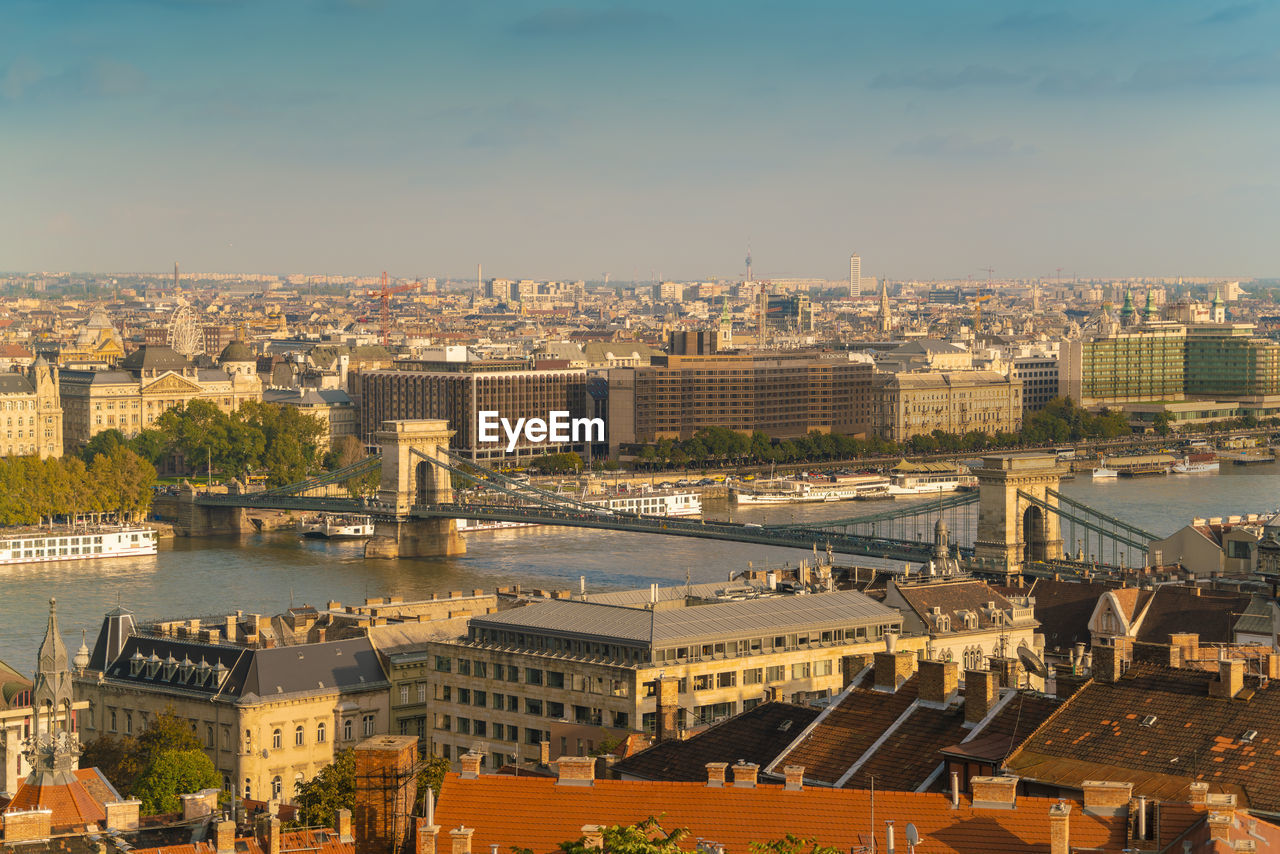
[[[1009,453],[983,457],[973,470],[978,476],[978,536],[974,557],[995,574],[1016,575],[1033,561],[1062,557],[1062,526],[1057,513],[1046,512],[1019,493],[1051,507],[1066,474],[1052,453]]]

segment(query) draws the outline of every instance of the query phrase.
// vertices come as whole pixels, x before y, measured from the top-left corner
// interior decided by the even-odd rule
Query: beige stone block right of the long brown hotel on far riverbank
[[[913,371],[876,378],[877,429],[890,442],[943,433],[1016,433],[1023,383],[996,371]]]

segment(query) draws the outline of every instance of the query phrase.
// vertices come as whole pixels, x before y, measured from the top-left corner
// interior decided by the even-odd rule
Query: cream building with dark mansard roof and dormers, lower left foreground
[[[288,803],[337,750],[387,732],[388,681],[367,638],[308,643],[273,624],[229,615],[137,626],[115,608],[74,676],[88,703],[81,739],[136,736],[170,709],[191,722],[225,791]]]

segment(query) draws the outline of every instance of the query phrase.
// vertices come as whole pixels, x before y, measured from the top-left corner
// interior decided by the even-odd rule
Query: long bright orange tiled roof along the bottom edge
[[[920,834],[916,854],[988,851],[1027,854],[1050,850],[1050,798],[1019,798],[1015,809],[974,809],[968,798],[951,809],[947,795],[932,793],[876,793],[877,845],[886,849],[884,821],[899,827],[902,845],[908,822]],[[582,836],[584,825],[632,825],[658,817],[666,831],[689,830],[686,848],[699,837],[730,851],[748,851],[750,842],[782,839],[787,834],[812,837],[837,849],[870,842],[872,795],[864,790],[814,789],[788,791],[782,786],[712,787],[692,782],[596,780],[590,786],[559,785],[556,780],[481,775],[444,780],[435,823],[436,846],[448,845],[448,831],[475,828],[472,851],[529,848],[535,854],[558,851],[559,844]],[[1126,817],[1085,816],[1074,804],[1070,836],[1074,848],[1119,851],[1125,846]],[[902,845],[905,850],[905,845]]]

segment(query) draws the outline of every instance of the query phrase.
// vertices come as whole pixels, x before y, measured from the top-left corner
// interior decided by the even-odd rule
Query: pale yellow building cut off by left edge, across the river
[[[63,456],[63,405],[58,369],[37,357],[22,371],[0,374],[0,456]]]

